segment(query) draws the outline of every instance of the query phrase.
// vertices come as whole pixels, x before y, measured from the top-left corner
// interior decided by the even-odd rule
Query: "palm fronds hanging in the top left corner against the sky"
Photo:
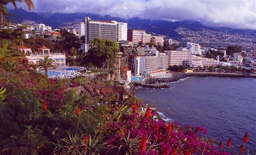
[[[2,1],[0,1],[1,24],[4,24],[4,21],[5,21],[4,16],[5,16],[6,13],[8,13],[8,10],[7,10],[5,5],[11,2],[12,5],[14,5],[15,10],[17,10],[16,1],[18,1],[18,2],[23,2],[24,1],[26,6],[28,7],[29,11],[31,9],[35,9],[35,6],[34,6],[32,0],[2,0]]]

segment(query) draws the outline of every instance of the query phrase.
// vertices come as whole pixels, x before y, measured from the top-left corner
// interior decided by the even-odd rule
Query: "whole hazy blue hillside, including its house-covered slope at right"
[[[256,30],[242,30],[230,28],[211,28],[198,21],[163,21],[140,19],[139,17],[122,19],[109,15],[100,16],[87,13],[36,13],[27,12],[23,9],[10,10],[11,19],[18,23],[25,19],[37,23],[45,23],[52,28],[74,25],[78,21],[83,21],[86,16],[95,20],[118,21],[128,23],[131,29],[144,29],[147,32],[157,33],[166,37],[172,37],[178,41],[190,42],[230,42],[244,47],[246,50],[256,49]]]

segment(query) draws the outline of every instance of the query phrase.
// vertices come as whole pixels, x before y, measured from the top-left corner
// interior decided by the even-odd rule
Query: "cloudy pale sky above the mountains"
[[[32,0],[34,12],[86,12],[120,18],[200,21],[206,26],[256,29],[256,0]],[[9,8],[9,7],[8,7]],[[18,8],[25,8],[18,3]]]

